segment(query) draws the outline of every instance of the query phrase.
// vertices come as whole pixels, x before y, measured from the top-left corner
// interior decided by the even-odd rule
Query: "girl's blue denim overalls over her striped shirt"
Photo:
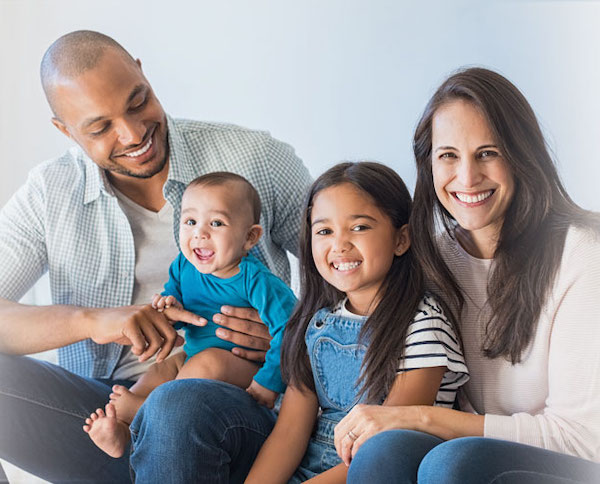
[[[320,309],[306,329],[306,348],[322,413],[290,483],[304,482],[342,462],[335,452],[333,429],[360,403],[355,385],[367,349],[366,345],[358,344],[365,319]]]

